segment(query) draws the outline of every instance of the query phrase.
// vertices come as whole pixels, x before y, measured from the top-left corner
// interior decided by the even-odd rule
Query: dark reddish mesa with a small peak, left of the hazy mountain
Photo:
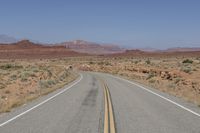
[[[0,44],[0,59],[21,59],[21,58],[63,58],[71,56],[84,56],[65,46],[42,45],[29,40],[22,40],[11,44]]]

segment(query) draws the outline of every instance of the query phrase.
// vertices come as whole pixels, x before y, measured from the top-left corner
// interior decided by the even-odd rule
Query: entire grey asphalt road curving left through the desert
[[[108,74],[81,75],[63,89],[0,115],[0,133],[105,132],[103,84],[115,132],[200,133],[200,109],[191,103]]]

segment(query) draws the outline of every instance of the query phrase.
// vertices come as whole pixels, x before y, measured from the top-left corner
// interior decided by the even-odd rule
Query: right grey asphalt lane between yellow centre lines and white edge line
[[[99,75],[110,89],[118,133],[200,133],[199,116],[126,81]]]

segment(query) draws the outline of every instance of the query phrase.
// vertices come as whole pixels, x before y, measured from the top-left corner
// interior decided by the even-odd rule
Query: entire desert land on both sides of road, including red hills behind
[[[93,55],[87,51],[101,46],[78,43],[73,47],[76,51],[64,45],[45,46],[28,40],[0,45],[0,112],[63,87],[78,77],[77,71],[122,76],[200,106],[199,51],[118,49],[119,53],[105,54],[115,51],[114,46],[114,50],[109,47]],[[105,48],[99,51],[102,49]]]

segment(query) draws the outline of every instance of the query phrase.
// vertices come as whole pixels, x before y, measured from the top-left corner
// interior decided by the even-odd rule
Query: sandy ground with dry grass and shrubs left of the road
[[[0,60],[0,113],[76,79],[67,65],[65,60]]]

